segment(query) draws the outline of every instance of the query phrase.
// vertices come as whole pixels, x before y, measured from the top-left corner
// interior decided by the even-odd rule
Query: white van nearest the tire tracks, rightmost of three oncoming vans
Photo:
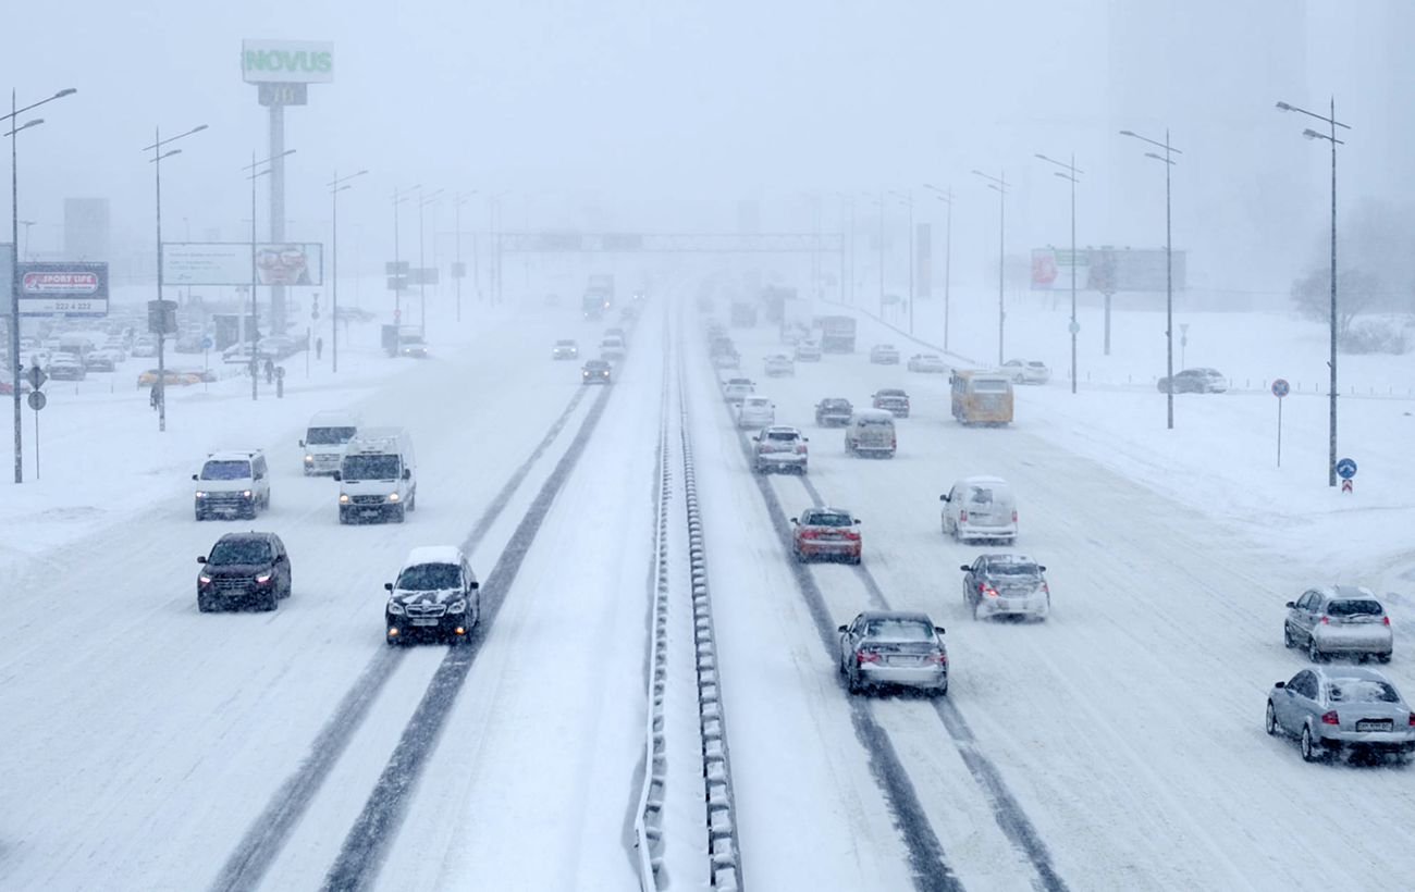
[[[400,427],[361,430],[344,447],[334,472],[340,482],[340,523],[392,520],[417,509],[417,458]]]

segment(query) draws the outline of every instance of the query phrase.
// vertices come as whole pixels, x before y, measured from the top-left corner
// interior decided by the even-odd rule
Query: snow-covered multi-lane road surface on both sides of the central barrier
[[[601,325],[535,308],[488,315],[456,349],[395,376],[382,375],[389,360],[351,356],[347,383],[291,382],[280,404],[214,385],[174,401],[161,442],[150,416],[133,426],[133,394],[75,397],[92,407],[82,421],[58,406],[52,461],[92,454],[106,482],[89,503],[79,476],[25,492],[48,513],[17,527],[4,553],[0,888],[277,889],[340,876],[351,828],[376,807],[379,777],[453,659],[382,638],[382,584],[409,548],[433,543],[468,547],[484,582],[494,567],[515,573],[487,592],[497,605],[461,687],[358,884],[634,888],[654,474],[679,358],[746,888],[1378,886],[1408,868],[1408,768],[1305,765],[1262,731],[1268,687],[1306,663],[1282,647],[1282,602],[1330,575],[1330,551],[1295,553],[1247,515],[1183,498],[1214,483],[1146,464],[1139,441],[1116,440],[1119,458],[1097,461],[1094,431],[1046,399],[1051,389],[1019,397],[1010,428],[962,428],[947,376],[870,366],[863,351],[758,387],[778,423],[811,437],[807,479],[758,485],[699,319],[683,311],[665,336],[666,303],[633,332],[608,389],[582,387],[579,363],[548,359],[555,338],[589,342]],[[766,328],[732,334],[744,358],[775,348]],[[860,404],[900,385],[914,413],[891,461],[848,458],[839,430],[811,423],[824,396]],[[1186,418],[1213,409],[1213,430],[1241,424],[1245,399],[1189,400]],[[420,498],[406,524],[337,524],[335,485],[304,478],[294,445],[317,409],[413,433]],[[267,451],[273,510],[194,523],[190,466],[225,445]],[[1049,567],[1046,623],[965,611],[958,565],[988,548],[941,536],[938,493],[971,474],[1016,488],[1016,550]],[[863,519],[860,570],[790,560],[781,515],[816,499]],[[294,595],[275,614],[198,615],[194,558],[250,526],[287,543]],[[945,701],[845,693],[829,632],[884,605],[947,626]],[[1415,696],[1392,612],[1398,650],[1384,670]],[[688,787],[671,809],[695,807],[702,790]],[[1313,827],[1333,843],[1283,857]],[[672,879],[698,888],[689,872]]]

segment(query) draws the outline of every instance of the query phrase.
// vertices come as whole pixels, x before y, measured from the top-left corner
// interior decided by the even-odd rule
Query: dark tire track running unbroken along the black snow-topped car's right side
[[[579,393],[583,393],[583,390]],[[409,794],[417,785],[417,779],[427,763],[427,756],[437,745],[443,724],[451,712],[457,694],[461,691],[461,686],[466,683],[467,674],[471,671],[471,666],[481,652],[481,645],[487,636],[485,630],[501,611],[507,591],[515,582],[516,574],[521,571],[521,564],[525,561],[526,553],[529,553],[536,534],[541,532],[541,524],[545,522],[550,503],[565,486],[566,479],[569,479],[570,472],[584,451],[584,444],[594,433],[600,416],[604,414],[608,396],[610,389],[606,387],[596,397],[574,440],[565,455],[560,457],[560,461],[556,462],[550,476],[541,486],[541,492],[536,493],[531,507],[521,519],[521,523],[516,524],[511,541],[507,544],[505,551],[501,553],[501,558],[487,575],[487,581],[481,589],[484,599],[481,622],[477,623],[474,633],[466,645],[447,652],[447,656],[443,657],[441,664],[427,684],[427,691],[423,694],[422,701],[419,701],[413,717],[408,721],[408,727],[403,729],[398,746],[389,756],[383,773],[364,803],[364,810],[354,821],[354,827],[350,828],[348,835],[344,837],[338,858],[335,858],[334,865],[324,876],[321,888],[327,892],[366,889],[378,879],[378,871],[406,814]]]

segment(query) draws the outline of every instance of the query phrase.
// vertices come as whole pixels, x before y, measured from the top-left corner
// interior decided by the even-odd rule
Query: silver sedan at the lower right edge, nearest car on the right
[[[1380,671],[1361,666],[1303,669],[1268,694],[1268,734],[1298,738],[1316,762],[1343,749],[1415,752],[1415,714]]]

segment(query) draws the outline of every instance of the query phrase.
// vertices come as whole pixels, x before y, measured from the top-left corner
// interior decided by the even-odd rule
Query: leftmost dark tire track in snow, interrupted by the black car
[[[601,394],[603,396],[603,394]],[[559,437],[569,423],[574,410],[584,400],[584,389],[577,389],[566,404],[565,410],[555,420],[542,437],[536,448],[526,457],[521,466],[507,479],[507,483],[487,506],[473,527],[463,550],[468,554],[481,544],[491,526],[501,517],[507,505],[515,496],[526,475],[541,461],[550,444]],[[586,420],[589,424],[589,420]],[[583,433],[583,427],[582,427]],[[577,438],[579,440],[579,438]],[[573,448],[573,445],[572,445]],[[490,580],[488,580],[490,582]],[[211,885],[212,892],[241,892],[255,889],[265,879],[266,871],[284,848],[290,831],[304,817],[310,803],[324,786],[324,780],[334,770],[340,756],[348,748],[354,734],[364,724],[369,708],[378,698],[383,684],[392,677],[393,670],[402,660],[405,650],[398,647],[379,647],[374,657],[350,686],[348,693],[340,700],[338,707],[320,729],[320,734],[310,744],[310,752],[294,775],[290,775],[280,785],[280,789],[270,799],[260,816],[250,824],[250,828],[236,844],[235,851],[226,858],[221,872],[216,874]]]

